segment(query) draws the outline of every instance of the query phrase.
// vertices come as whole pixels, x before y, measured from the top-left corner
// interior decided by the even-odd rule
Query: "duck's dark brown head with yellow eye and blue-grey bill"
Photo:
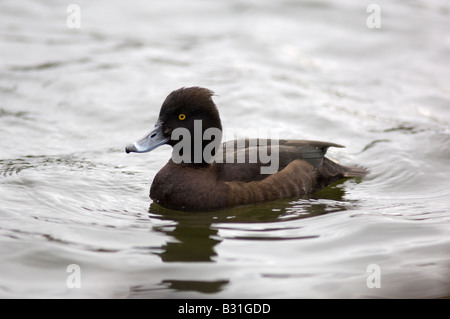
[[[214,92],[201,87],[173,91],[164,100],[154,128],[140,140],[128,145],[125,151],[145,153],[167,144],[174,147],[174,154],[175,149],[181,151],[177,155],[184,155],[185,162],[204,164],[210,161],[203,157],[203,151],[211,142],[217,147],[222,137],[222,124],[212,100],[213,95]],[[187,151],[190,151],[189,155]],[[200,152],[202,159],[199,162]]]

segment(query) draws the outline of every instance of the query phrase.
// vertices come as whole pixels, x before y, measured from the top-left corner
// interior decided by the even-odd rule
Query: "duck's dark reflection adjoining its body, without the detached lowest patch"
[[[222,225],[286,222],[346,210],[351,204],[343,200],[345,192],[342,186],[340,181],[295,201],[277,200],[213,212],[182,212],[152,203],[149,208],[150,218],[175,223],[175,227],[154,227],[155,231],[171,238],[161,247],[162,252],[156,254],[163,262],[213,262],[217,256],[214,247],[223,240],[218,234]],[[268,230],[284,228],[285,225],[276,228],[271,224]]]

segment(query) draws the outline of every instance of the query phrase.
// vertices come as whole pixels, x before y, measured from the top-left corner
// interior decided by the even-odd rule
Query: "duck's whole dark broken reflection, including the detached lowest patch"
[[[343,182],[332,184],[324,190],[312,195],[304,196],[293,201],[292,199],[278,200],[258,205],[234,207],[213,212],[182,212],[166,209],[152,203],[149,208],[150,219],[169,221],[168,225],[156,225],[154,231],[162,232],[170,239],[158,249],[157,254],[165,263],[168,262],[215,262],[217,251],[215,247],[229,237],[222,237],[219,231],[228,229],[231,224],[239,225],[235,230],[239,239],[246,240],[279,240],[301,239],[292,237],[291,225],[286,222],[300,218],[313,217],[331,212],[346,210],[351,205],[343,200],[345,191]],[[274,224],[275,223],[275,224]],[[279,227],[276,225],[279,223]],[[249,237],[242,225],[258,225],[262,236]],[[227,226],[228,225],[228,226]],[[265,227],[267,225],[267,227]],[[275,227],[274,227],[275,225]],[[289,234],[280,237],[283,230],[289,229]],[[277,232],[277,237],[271,233]],[[281,235],[283,236],[283,235]],[[311,238],[308,236],[306,238]],[[200,293],[216,293],[224,289],[228,280],[219,281],[194,281],[164,279],[159,288],[175,291],[195,291]],[[155,291],[154,287],[133,287],[131,292],[134,297],[142,297]]]

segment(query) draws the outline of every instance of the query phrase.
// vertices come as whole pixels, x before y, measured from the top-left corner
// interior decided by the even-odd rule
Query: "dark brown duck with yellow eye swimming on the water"
[[[325,157],[328,148],[343,147],[335,143],[262,138],[222,143],[214,95],[199,86],[174,90],[162,103],[154,128],[125,147],[127,154],[173,148],[151,184],[154,203],[180,211],[220,210],[298,198],[368,173]]]

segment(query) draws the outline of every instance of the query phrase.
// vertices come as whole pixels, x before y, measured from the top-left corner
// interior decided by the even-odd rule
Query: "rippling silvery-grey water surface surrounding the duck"
[[[0,297],[448,297],[449,15],[438,0],[0,1]],[[225,128],[339,143],[329,156],[370,175],[219,212],[156,206],[170,148],[124,147],[193,85]]]

